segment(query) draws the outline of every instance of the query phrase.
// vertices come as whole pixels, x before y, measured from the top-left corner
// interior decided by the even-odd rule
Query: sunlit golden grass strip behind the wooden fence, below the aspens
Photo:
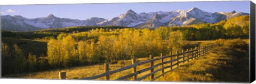
[[[158,57],[154,57],[154,58],[159,58]],[[140,62],[140,61],[145,61],[148,60],[149,58],[139,58],[136,60],[136,62]],[[175,59],[175,57],[173,57],[173,59]],[[164,59],[164,61],[169,61],[170,58],[166,58]],[[183,59],[180,59],[180,61],[182,61]],[[154,64],[158,64],[161,63],[162,60],[157,60],[154,61]],[[173,62],[173,64],[176,62]],[[131,64],[131,60],[119,60],[118,63],[116,64],[109,64],[109,68],[110,70],[116,70],[125,66],[129,66]],[[180,65],[182,65],[182,63],[180,63]],[[170,63],[164,64],[164,66],[170,66]],[[137,71],[148,68],[149,67],[149,63],[146,64],[142,64],[140,66],[137,66]],[[174,66],[173,68],[175,68],[176,66]],[[162,66],[158,66],[156,67],[154,70],[160,69],[162,68]],[[169,71],[170,68],[165,69],[165,71]],[[97,64],[94,66],[85,66],[85,67],[74,67],[74,68],[66,68],[66,69],[57,69],[57,70],[50,70],[50,71],[42,71],[42,72],[33,72],[33,73],[24,73],[24,74],[17,74],[15,76],[7,76],[7,77],[15,77],[15,78],[26,78],[26,79],[58,79],[59,76],[59,72],[60,71],[66,71],[67,72],[67,79],[81,79],[84,77],[91,77],[91,76],[95,76],[97,74],[101,74],[104,72],[104,67],[103,64]],[[110,75],[110,80],[115,80],[119,77],[125,76],[127,74],[132,73],[132,69],[127,69],[121,72],[117,72],[114,74]],[[137,75],[137,78],[140,78],[142,76],[145,76],[146,74],[150,73],[149,71],[146,72],[142,72],[140,74]],[[155,73],[154,77],[159,76],[159,74],[162,74],[161,71],[158,71],[157,73]],[[98,78],[96,80],[104,80],[104,77]],[[127,78],[125,80],[133,80],[133,77]],[[149,77],[143,79],[142,81],[149,81]]]

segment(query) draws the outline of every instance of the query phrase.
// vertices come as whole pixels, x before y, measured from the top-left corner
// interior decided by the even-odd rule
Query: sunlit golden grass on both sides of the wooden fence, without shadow
[[[249,41],[249,40],[245,40]],[[204,41],[202,41],[204,42]],[[207,43],[211,43],[212,41],[206,41]],[[236,81],[230,80],[230,78],[234,78],[234,74],[225,74],[225,70],[223,67],[229,69],[230,60],[234,60],[227,54],[227,49],[216,49],[214,52],[210,52],[205,56],[202,56],[195,60],[190,60],[189,62],[185,62],[185,64],[180,63],[180,67],[175,69],[172,72],[168,72],[164,75],[164,77],[158,78],[156,81]],[[159,58],[154,57],[154,58]],[[136,62],[145,61],[149,58],[139,58]],[[175,59],[175,58],[173,58]],[[170,58],[164,59],[164,61],[170,60]],[[182,59],[180,60],[182,61]],[[157,60],[154,64],[161,63],[161,60]],[[175,62],[173,62],[174,64]],[[116,64],[109,64],[110,71],[116,70],[125,66],[129,66],[131,64],[131,60],[119,60]],[[164,64],[164,66],[170,66],[170,63]],[[148,68],[149,63],[142,64],[137,66],[137,71]],[[177,66],[174,66],[175,68]],[[162,66],[158,66],[154,70],[160,69]],[[165,71],[169,71],[170,68],[165,69]],[[58,72],[59,71],[66,71],[67,72],[67,79],[81,79],[84,77],[91,77],[96,76],[97,74],[101,74],[104,72],[103,64],[97,64],[94,66],[85,66],[85,67],[74,67],[74,68],[66,68],[66,69],[59,69],[59,70],[50,70],[50,71],[43,71],[43,72],[34,72],[34,73],[26,73],[26,74],[19,74],[10,77],[18,77],[18,78],[26,78],[26,79],[58,79]],[[132,73],[132,69],[124,70],[118,73],[114,73],[110,75],[110,80],[115,80],[119,77],[125,76],[127,74]],[[149,71],[142,72],[138,74],[137,78],[145,76],[146,74],[150,73]],[[162,74],[161,71],[155,73],[154,77],[159,76]],[[226,77],[226,78],[225,78]],[[104,77],[98,78],[96,80],[104,80]],[[133,77],[127,78],[125,80],[133,80]],[[149,81],[150,78],[147,77],[142,81]]]

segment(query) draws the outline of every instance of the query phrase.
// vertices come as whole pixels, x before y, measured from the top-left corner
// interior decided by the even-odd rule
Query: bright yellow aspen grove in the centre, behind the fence
[[[180,32],[171,32],[169,42],[164,42],[159,33],[149,29],[120,29],[115,32],[118,34],[99,35],[97,40],[85,41],[75,41],[72,35],[60,34],[58,39],[51,39],[47,44],[47,59],[53,66],[72,67],[181,49]]]

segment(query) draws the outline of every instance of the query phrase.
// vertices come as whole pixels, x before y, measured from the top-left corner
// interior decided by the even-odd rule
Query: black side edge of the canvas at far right
[[[250,13],[250,82],[255,80],[255,4],[251,1]]]

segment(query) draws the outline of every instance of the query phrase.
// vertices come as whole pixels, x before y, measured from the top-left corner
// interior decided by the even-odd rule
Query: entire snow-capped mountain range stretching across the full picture
[[[205,12],[196,7],[187,11],[177,10],[170,12],[150,12],[135,13],[128,10],[126,13],[117,17],[106,20],[105,18],[92,17],[86,20],[74,20],[69,18],[60,18],[50,14],[40,18],[26,18],[20,15],[4,15],[1,16],[1,28],[9,31],[33,31],[48,28],[61,28],[69,26],[104,26],[116,25],[138,28],[154,29],[159,26],[173,25],[191,25],[199,23],[217,23],[222,20],[228,20],[231,17],[249,15],[242,12]]]

